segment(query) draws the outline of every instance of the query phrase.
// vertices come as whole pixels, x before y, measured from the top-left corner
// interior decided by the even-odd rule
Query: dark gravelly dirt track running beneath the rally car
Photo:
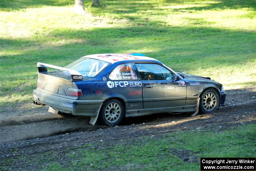
[[[79,144],[95,144],[99,141],[102,141],[103,146],[117,140],[139,141],[143,137],[158,137],[180,130],[214,129],[220,131],[236,125],[251,124],[256,122],[255,97],[254,87],[228,90],[226,106],[220,107],[211,114],[195,117],[191,117],[191,113],[153,114],[126,119],[123,125],[116,127],[89,125],[89,118],[84,117],[63,119],[56,118],[55,115],[52,115],[53,119],[43,120],[41,118],[38,122],[21,125],[13,125],[16,122],[5,121],[3,122],[5,126],[0,127],[2,142],[0,157],[31,156],[47,150],[63,152]],[[15,154],[10,149],[15,149]],[[28,167],[23,163],[16,163],[13,169],[28,169]],[[37,169],[37,167],[40,168],[40,165],[33,166],[32,169]]]

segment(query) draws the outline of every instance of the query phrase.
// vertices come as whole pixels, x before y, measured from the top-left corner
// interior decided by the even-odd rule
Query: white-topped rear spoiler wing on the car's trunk
[[[45,72],[47,72],[47,67],[50,68],[55,68],[55,69],[59,69],[59,70],[63,70],[63,71],[69,71],[69,73],[71,74],[71,80],[75,81],[75,80],[83,80],[83,75],[73,69],[68,69],[68,68],[62,68],[62,67],[58,67],[55,65],[50,65],[50,64],[45,64],[45,63],[41,63],[41,62],[37,62],[37,69],[38,72],[43,74]]]

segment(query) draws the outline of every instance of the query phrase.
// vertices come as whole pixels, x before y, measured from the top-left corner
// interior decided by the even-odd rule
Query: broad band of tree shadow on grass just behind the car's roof
[[[40,44],[41,37],[40,40],[1,39],[3,51],[25,49],[17,55],[2,55],[1,66],[10,68],[15,61],[16,67],[25,66],[28,70],[24,71],[33,71],[31,64],[36,66],[36,62],[39,61],[64,66],[72,60],[88,54],[130,51],[145,53],[172,66],[178,66],[180,62],[184,65],[193,62],[199,65],[204,58],[208,61],[218,61],[220,59],[214,57],[225,54],[226,57],[217,62],[219,66],[223,66],[236,65],[238,62],[250,59],[235,58],[231,60],[232,56],[250,55],[251,52],[248,50],[255,49],[255,42],[252,39],[253,32],[211,27],[129,26],[95,28],[93,30],[65,29],[65,31],[56,29],[45,34],[45,40],[51,40],[50,36],[55,39],[59,37],[59,40],[80,39],[81,41],[43,46]],[[238,39],[241,40],[238,42]],[[27,49],[30,46],[35,48]],[[170,59],[172,60],[170,61]],[[22,73],[23,71],[18,72]]]

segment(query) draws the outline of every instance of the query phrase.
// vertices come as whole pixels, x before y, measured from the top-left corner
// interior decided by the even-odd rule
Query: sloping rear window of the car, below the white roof
[[[95,77],[95,75],[100,73],[108,65],[110,65],[110,63],[98,59],[80,58],[64,68],[76,70],[85,77]]]

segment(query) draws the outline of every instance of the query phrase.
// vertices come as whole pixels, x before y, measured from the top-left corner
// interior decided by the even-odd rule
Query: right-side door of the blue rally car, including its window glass
[[[174,74],[157,63],[136,63],[142,80],[144,109],[184,106],[186,83],[176,81]]]

